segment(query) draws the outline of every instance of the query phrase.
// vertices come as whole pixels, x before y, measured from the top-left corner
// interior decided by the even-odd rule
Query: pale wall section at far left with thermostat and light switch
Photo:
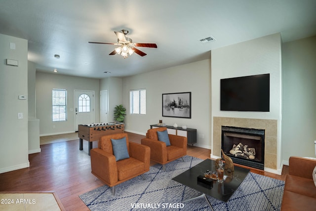
[[[10,42],[15,49],[10,49]],[[28,157],[28,41],[0,34],[0,173],[29,167]],[[19,66],[6,65],[6,59]],[[18,119],[23,113],[23,119]]]

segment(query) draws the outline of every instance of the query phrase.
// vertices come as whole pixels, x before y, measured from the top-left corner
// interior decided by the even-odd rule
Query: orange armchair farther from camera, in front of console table
[[[166,146],[165,142],[158,140],[157,134],[157,131],[164,131],[166,129],[166,127],[149,129],[146,133],[146,138],[141,139],[141,143],[149,146],[151,149],[150,159],[162,164],[163,170],[165,170],[165,164],[187,155],[188,143],[186,137],[168,134],[170,146]]]

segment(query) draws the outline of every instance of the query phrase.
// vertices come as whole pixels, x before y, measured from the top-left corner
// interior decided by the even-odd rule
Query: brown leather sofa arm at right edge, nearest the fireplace
[[[294,176],[313,179],[313,170],[316,167],[316,160],[290,157],[288,173]]]

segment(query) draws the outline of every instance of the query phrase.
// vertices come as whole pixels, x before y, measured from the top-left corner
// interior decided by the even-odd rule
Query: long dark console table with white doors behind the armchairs
[[[168,134],[172,135],[179,135],[187,137],[188,144],[192,145],[197,143],[197,129],[187,128],[183,129],[182,127],[173,127],[173,126],[160,126],[160,125],[150,125],[150,128],[157,128],[157,127],[167,127]]]

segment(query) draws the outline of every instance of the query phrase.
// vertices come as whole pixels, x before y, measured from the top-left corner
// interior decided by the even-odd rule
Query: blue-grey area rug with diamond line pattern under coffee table
[[[172,178],[197,165],[202,160],[191,156],[166,165],[155,165],[142,176],[123,182],[112,189],[103,185],[80,195],[91,211],[139,211],[139,210],[210,210],[204,199],[183,203],[201,195],[199,191],[182,185]],[[215,211],[278,211],[281,207],[284,181],[249,173],[228,203],[207,196]]]

